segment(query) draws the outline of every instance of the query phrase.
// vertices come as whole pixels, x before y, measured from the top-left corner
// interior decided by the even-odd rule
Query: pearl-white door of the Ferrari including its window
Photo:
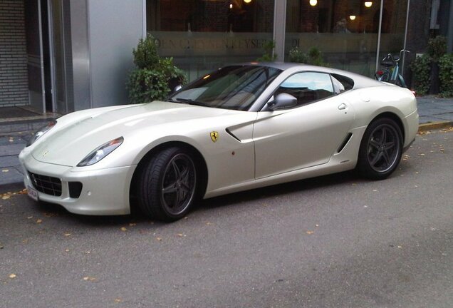
[[[327,73],[293,74],[274,96],[283,92],[295,96],[298,106],[262,111],[254,124],[257,179],[327,163],[354,119],[347,95],[335,95]]]

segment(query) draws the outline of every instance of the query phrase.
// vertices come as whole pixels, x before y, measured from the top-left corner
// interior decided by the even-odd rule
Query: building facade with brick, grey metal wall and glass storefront
[[[2,0],[0,17],[0,106],[39,112],[127,103],[132,48],[147,33],[189,80],[255,61],[272,41],[278,61],[316,47],[365,76],[387,53],[424,52],[430,34],[453,43],[447,0]]]

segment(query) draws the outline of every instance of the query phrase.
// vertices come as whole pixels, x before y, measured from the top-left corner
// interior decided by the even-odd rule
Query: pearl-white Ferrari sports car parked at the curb
[[[357,169],[387,178],[418,129],[407,88],[296,63],[225,66],[167,101],[77,111],[19,155],[35,200],[178,220],[197,198]],[[135,203],[135,202],[132,202]]]

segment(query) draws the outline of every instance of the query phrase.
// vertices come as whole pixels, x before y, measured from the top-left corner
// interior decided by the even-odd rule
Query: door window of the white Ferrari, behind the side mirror
[[[328,73],[296,73],[283,81],[274,93],[288,93],[297,98],[297,106],[335,95]]]

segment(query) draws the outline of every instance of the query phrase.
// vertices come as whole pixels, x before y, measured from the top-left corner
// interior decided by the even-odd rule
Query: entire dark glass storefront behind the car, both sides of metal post
[[[274,31],[277,0],[147,0],[147,31],[189,80],[226,63],[254,61]],[[380,58],[403,48],[407,0],[385,0]],[[332,67],[373,76],[381,1],[286,0],[285,60],[316,47]],[[278,42],[276,42],[278,43]]]

